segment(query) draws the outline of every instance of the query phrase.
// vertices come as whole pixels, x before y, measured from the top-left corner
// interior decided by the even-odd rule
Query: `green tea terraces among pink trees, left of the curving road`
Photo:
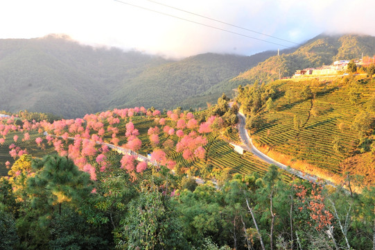
[[[119,146],[123,146],[127,143],[127,138],[125,137],[125,124],[130,121],[129,118],[122,120],[119,124],[112,124],[111,126],[117,128],[116,138],[119,138]],[[109,126],[107,122],[103,122],[104,127]],[[200,160],[198,158],[194,158],[193,160],[185,160],[182,157],[182,152],[176,152],[176,144],[180,140],[180,138],[176,135],[168,135],[164,133],[163,126],[157,124],[154,119],[150,117],[144,116],[134,116],[132,117],[132,123],[134,124],[134,128],[137,128],[139,131],[139,139],[142,142],[142,147],[139,150],[139,153],[146,156],[153,150],[152,145],[150,144],[150,139],[148,135],[148,129],[150,127],[158,126],[159,128],[159,144],[157,147],[162,148],[163,143],[166,140],[172,140],[174,142],[174,146],[166,151],[168,156],[173,158],[177,163],[179,163],[182,167],[186,169],[192,169],[192,171],[198,171],[197,174],[200,173],[201,169],[209,169],[209,171],[213,172],[220,172],[223,169],[230,169],[229,173],[240,173],[240,174],[252,174],[254,172],[258,173],[259,176],[264,176],[265,172],[268,170],[268,164],[264,163],[261,160],[258,160],[255,156],[252,156],[251,153],[246,152],[243,155],[236,153],[233,150],[233,147],[229,145],[228,142],[225,140],[231,140],[233,142],[238,142],[238,133],[236,129],[229,130],[225,132],[225,140],[220,139],[221,135],[219,136],[218,133],[207,133],[203,135],[207,138],[207,145],[204,147],[206,150],[206,154],[204,159]],[[166,125],[175,127],[176,122],[173,122],[171,119],[166,119]],[[192,130],[189,128],[184,128],[184,134],[189,134]],[[64,131],[60,131],[60,133],[68,132],[67,128],[64,128]],[[0,154],[1,154],[1,174],[6,175],[8,170],[5,167],[5,163],[8,160],[10,163],[14,162],[14,159],[9,155],[9,146],[10,144],[15,143],[12,139],[14,135],[19,136],[19,140],[17,140],[17,147],[21,147],[21,149],[27,149],[28,153],[31,153],[34,157],[42,157],[48,153],[55,153],[53,146],[46,147],[46,150],[41,149],[35,143],[35,138],[41,137],[44,138],[44,135],[37,133],[37,131],[31,131],[30,133],[30,140],[23,142],[21,139],[24,135],[21,132],[12,132],[7,135],[6,142],[0,147]],[[73,136],[73,135],[70,135]],[[112,131],[107,130],[103,135],[103,140],[105,142],[110,142],[112,140]],[[67,144],[71,144],[71,140],[67,140],[64,142],[64,147],[67,150]],[[110,142],[111,143],[111,142]],[[109,152],[107,153],[107,158],[111,158],[111,162],[120,165],[120,160],[122,158],[119,153],[116,152]],[[87,160],[87,163],[91,165],[96,164],[96,158],[90,157]],[[206,172],[207,174],[207,172]],[[210,174],[210,173],[209,173]],[[286,181],[290,181],[291,176],[287,173],[283,174],[283,178]]]

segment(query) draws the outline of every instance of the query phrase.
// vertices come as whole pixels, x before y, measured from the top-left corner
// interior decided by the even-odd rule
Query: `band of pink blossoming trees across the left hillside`
[[[91,179],[96,180],[96,173],[105,171],[110,165],[106,156],[109,149],[105,142],[109,141],[119,146],[119,142],[123,140],[126,143],[122,147],[130,149],[133,153],[123,156],[121,168],[131,174],[142,173],[147,169],[147,164],[137,162],[135,153],[141,149],[142,141],[138,129],[132,122],[134,115],[146,115],[148,119],[154,119],[155,126],[148,129],[152,149],[151,161],[157,165],[165,165],[168,169],[174,169],[176,165],[175,161],[168,159],[166,153],[171,149],[182,152],[186,160],[203,159],[206,153],[204,146],[207,144],[204,134],[210,133],[213,122],[221,119],[209,117],[207,122],[199,124],[192,113],[170,110],[166,113],[166,117],[162,117],[159,110],[150,111],[143,107],[114,109],[85,115],[82,119],[61,119],[53,123],[24,120],[22,125],[16,125],[18,118],[10,117],[1,120],[0,144],[5,142],[8,133],[23,132],[22,140],[27,141],[30,140],[30,131],[38,131],[38,133],[46,131],[48,135],[45,138],[40,136],[35,139],[35,143],[40,148],[44,149],[46,144],[53,146],[60,156],[68,156],[82,171],[88,172]],[[121,132],[120,125],[123,123],[125,123],[125,131]],[[167,138],[164,143],[161,143],[159,138],[162,133]],[[175,138],[177,144],[171,138]],[[14,135],[13,140],[17,143],[18,135]],[[26,149],[21,149],[15,144],[10,145],[12,157],[16,158],[24,153],[27,153]]]

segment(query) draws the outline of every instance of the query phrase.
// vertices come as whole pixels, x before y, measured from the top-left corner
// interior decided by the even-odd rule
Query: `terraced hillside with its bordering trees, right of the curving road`
[[[336,183],[358,174],[374,185],[374,93],[375,78],[346,76],[247,86],[238,101],[271,156]]]

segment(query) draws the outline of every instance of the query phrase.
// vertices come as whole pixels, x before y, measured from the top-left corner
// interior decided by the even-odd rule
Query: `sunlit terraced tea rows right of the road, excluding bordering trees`
[[[374,165],[371,166],[373,161],[369,160],[371,153],[358,151],[358,133],[351,129],[354,118],[365,110],[365,103],[375,92],[374,78],[358,81],[336,78],[330,82],[306,79],[276,81],[271,84],[277,85],[281,92],[293,90],[297,96],[304,85],[311,85],[315,97],[306,101],[295,97],[288,103],[283,94],[274,101],[274,110],[263,108],[259,113],[263,125],[252,135],[256,144],[290,156],[292,163],[303,160],[330,173],[351,171],[352,174],[366,176],[367,182],[374,181]],[[349,101],[349,92],[354,87],[360,93],[356,105]],[[312,108],[317,110],[318,115],[313,115]],[[302,124],[299,131],[294,127],[295,115]],[[340,140],[342,152],[333,150],[332,142],[335,138]]]

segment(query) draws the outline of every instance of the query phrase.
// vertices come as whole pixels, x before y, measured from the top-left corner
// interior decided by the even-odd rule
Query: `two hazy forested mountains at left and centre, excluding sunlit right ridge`
[[[206,99],[215,101],[231,90],[216,85],[269,56],[207,53],[166,60],[83,46],[64,35],[0,40],[0,109],[71,118],[132,106],[202,108]]]

